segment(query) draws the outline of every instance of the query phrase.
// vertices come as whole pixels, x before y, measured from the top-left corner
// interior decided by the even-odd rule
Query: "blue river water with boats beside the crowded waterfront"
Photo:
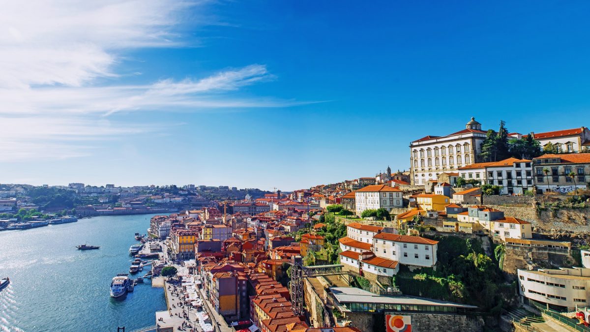
[[[0,232],[0,331],[117,331],[155,325],[165,310],[162,288],[138,284],[126,298],[109,295],[118,273],[129,273],[133,235],[152,214],[104,216],[37,229]],[[100,246],[77,250],[82,243]],[[144,269],[136,276],[148,272]]]

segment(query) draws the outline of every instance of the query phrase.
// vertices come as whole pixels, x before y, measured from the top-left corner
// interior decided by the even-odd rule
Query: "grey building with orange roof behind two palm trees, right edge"
[[[590,153],[544,154],[533,158],[533,167],[539,194],[548,190],[568,193],[574,188],[588,188],[590,183]],[[572,172],[573,178],[569,177]]]

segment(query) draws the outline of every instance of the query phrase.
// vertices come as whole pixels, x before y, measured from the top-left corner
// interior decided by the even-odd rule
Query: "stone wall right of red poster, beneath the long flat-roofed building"
[[[412,332],[429,331],[483,331],[484,321],[480,316],[431,314],[431,313],[387,313],[412,317]]]

